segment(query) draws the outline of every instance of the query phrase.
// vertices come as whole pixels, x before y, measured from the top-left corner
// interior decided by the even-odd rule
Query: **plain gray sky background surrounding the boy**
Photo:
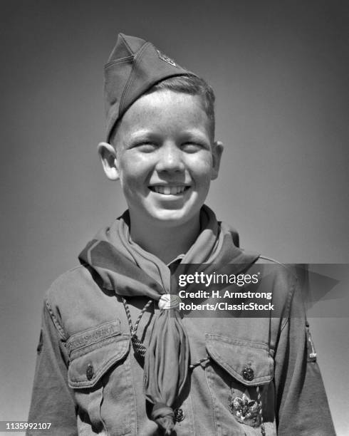
[[[0,6],[1,420],[26,420],[44,292],[125,209],[95,151],[103,65],[120,31],[213,85],[225,152],[207,204],[241,246],[283,262],[348,263],[348,1]],[[348,318],[311,326],[345,435]]]

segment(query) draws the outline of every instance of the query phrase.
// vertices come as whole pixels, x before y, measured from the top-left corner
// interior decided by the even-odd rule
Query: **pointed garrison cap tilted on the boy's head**
[[[119,33],[104,69],[107,141],[115,123],[127,108],[152,85],[172,76],[195,76],[152,43]]]

